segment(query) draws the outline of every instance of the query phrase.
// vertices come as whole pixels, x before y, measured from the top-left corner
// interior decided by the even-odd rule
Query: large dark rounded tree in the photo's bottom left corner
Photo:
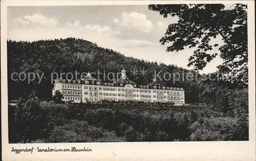
[[[40,101],[33,95],[27,102],[20,99],[17,106],[10,106],[9,131],[10,142],[30,143],[37,139],[47,139],[53,129],[49,118],[49,110],[40,106]],[[13,137],[14,136],[14,137]]]

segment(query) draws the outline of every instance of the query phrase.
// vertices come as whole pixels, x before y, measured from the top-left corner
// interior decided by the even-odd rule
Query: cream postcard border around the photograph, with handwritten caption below
[[[148,5],[247,3],[249,52],[249,141],[8,144],[7,6]],[[1,1],[2,160],[256,160],[255,158],[255,33],[253,1]],[[92,152],[14,154],[11,148],[77,148]]]

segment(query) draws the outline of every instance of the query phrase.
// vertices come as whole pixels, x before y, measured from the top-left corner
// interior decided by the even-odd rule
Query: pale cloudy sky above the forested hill
[[[169,44],[159,42],[167,26],[178,18],[163,18],[147,5],[15,6],[8,7],[7,21],[7,37],[11,40],[82,38],[124,56],[193,68],[187,67],[187,59],[194,49],[166,52]],[[221,63],[217,57],[199,72],[215,72]]]

